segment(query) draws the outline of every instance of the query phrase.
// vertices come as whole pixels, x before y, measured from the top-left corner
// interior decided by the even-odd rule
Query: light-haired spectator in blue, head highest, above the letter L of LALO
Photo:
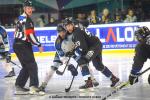
[[[103,12],[102,12],[102,17],[101,17],[101,23],[102,24],[108,24],[108,23],[111,23],[111,22],[112,22],[112,20],[111,20],[111,17],[110,17],[109,10],[107,8],[104,8]]]

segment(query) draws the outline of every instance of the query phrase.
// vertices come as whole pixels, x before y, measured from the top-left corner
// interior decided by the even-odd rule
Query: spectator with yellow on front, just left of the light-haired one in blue
[[[89,24],[99,24],[100,18],[96,16],[96,11],[92,10],[90,16],[88,17]]]

